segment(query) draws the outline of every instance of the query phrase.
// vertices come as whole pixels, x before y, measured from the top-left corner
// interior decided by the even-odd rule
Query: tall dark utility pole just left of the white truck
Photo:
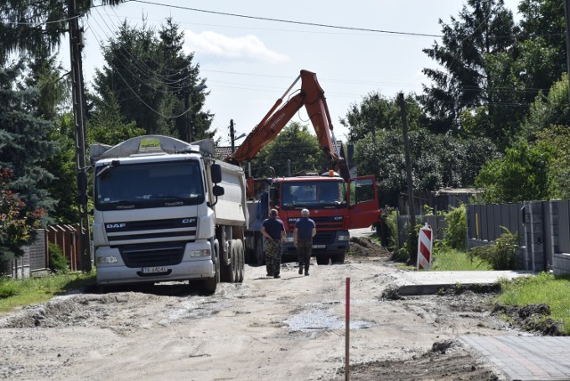
[[[89,215],[87,212],[87,174],[85,172],[85,93],[81,49],[83,38],[79,30],[76,0],[68,0],[69,50],[71,60],[71,87],[75,127],[75,152],[77,169],[77,207],[81,239],[81,270],[92,268],[91,244],[89,242]]]

